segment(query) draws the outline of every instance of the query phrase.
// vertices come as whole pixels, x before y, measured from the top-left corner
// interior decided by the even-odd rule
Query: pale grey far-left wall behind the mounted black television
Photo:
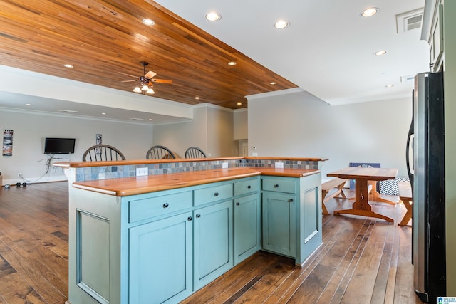
[[[38,112],[0,110],[0,130],[13,130],[13,155],[0,156],[3,184],[24,182],[17,174],[31,182],[66,180],[62,169],[46,172],[43,154],[45,137],[76,138],[75,153],[61,154],[64,160],[81,161],[86,149],[95,145],[95,135],[103,135],[103,143],[117,147],[126,159],[145,159],[152,145],[152,126],[109,120],[93,120]],[[45,174],[43,176],[43,174]],[[39,177],[43,176],[41,179]],[[38,179],[38,180],[37,180]]]

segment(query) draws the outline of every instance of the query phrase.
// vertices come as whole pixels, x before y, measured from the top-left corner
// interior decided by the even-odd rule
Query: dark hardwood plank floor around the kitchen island
[[[68,300],[68,183],[0,190],[0,303]],[[328,211],[348,208],[332,199]],[[302,268],[259,252],[182,303],[421,303],[413,292],[405,207],[373,203],[395,219],[323,216],[323,245]],[[142,303],[131,303],[142,304]]]

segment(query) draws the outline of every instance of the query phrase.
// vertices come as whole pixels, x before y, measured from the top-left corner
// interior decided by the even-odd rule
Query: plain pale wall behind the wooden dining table
[[[380,162],[406,177],[410,100],[330,106],[306,92],[249,99],[249,155],[327,157],[322,177],[349,162]],[[252,150],[256,146],[257,150]]]

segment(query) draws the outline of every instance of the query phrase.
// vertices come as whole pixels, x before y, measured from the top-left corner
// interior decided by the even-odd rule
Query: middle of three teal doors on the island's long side
[[[229,200],[193,211],[195,290],[233,266],[232,204]]]

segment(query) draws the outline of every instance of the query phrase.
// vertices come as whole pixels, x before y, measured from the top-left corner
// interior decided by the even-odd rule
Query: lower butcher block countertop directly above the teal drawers
[[[100,192],[113,196],[130,196],[169,189],[222,182],[230,179],[271,175],[278,177],[305,177],[320,172],[318,169],[275,169],[237,167],[203,171],[149,175],[145,177],[124,177],[120,179],[99,179],[74,182],[73,187]]]

